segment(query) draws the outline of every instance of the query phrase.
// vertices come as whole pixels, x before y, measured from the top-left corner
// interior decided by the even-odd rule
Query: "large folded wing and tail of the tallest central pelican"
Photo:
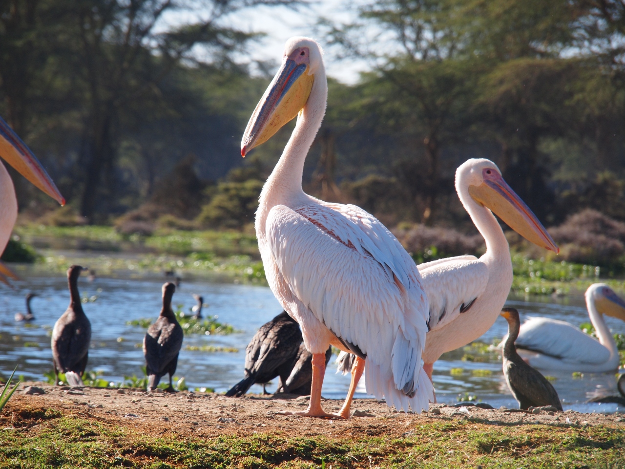
[[[431,383],[419,370],[427,298],[414,261],[390,231],[362,209],[338,204],[274,206],[266,230],[292,295],[350,350],[367,356],[367,373],[383,375],[371,392],[397,408],[408,401],[394,400],[396,390],[415,399],[413,409],[427,406]]]

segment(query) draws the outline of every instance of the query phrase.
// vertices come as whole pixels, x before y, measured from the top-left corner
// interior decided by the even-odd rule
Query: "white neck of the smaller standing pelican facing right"
[[[495,216],[489,209],[473,200],[469,195],[469,185],[463,178],[457,179],[456,191],[462,206],[469,213],[477,231],[486,241],[486,253],[482,256],[482,259],[486,261],[502,261],[506,265],[509,264],[511,266],[510,248]]]

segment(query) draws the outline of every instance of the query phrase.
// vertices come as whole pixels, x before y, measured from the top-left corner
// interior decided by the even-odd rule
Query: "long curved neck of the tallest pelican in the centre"
[[[269,210],[278,204],[297,206],[306,198],[302,190],[304,161],[326,113],[327,80],[323,64],[314,73],[314,83],[306,105],[297,115],[295,129],[284,147],[271,176],[262,187],[256,212],[256,234],[264,236]]]

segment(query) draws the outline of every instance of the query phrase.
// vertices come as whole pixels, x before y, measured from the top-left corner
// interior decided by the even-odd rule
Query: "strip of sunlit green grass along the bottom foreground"
[[[17,428],[2,425],[0,430],[0,468],[616,469],[625,465],[625,430],[601,426],[416,421],[400,438],[286,432],[202,438],[149,436],[132,425],[113,426],[54,411],[22,410],[20,416]],[[24,416],[29,417],[28,423],[23,422]],[[24,428],[35,423],[37,428]]]

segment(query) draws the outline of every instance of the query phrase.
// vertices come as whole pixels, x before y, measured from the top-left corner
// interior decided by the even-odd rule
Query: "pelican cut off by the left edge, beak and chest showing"
[[[37,188],[61,205],[65,204],[65,199],[39,160],[2,118],[0,118],[0,157]],[[16,219],[15,188],[9,172],[4,168],[4,164],[0,163],[0,253],[9,242]],[[0,263],[0,281],[7,283],[6,278],[9,276],[15,278],[14,273]]]

